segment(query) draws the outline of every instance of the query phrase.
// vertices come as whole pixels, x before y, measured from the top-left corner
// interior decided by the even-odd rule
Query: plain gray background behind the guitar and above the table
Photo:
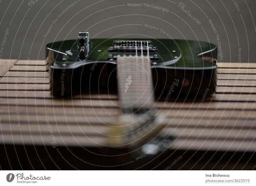
[[[130,7],[128,3],[142,3],[142,6]],[[186,5],[184,10],[190,11],[202,24],[199,25],[183,12],[178,7],[179,3]],[[169,11],[156,10],[151,5]],[[219,61],[238,62],[238,48],[241,48],[242,62],[255,62],[255,8],[255,0],[34,0],[33,3],[29,0],[1,0],[0,43],[4,41],[5,30],[9,29],[2,58],[44,59],[45,44],[76,38],[77,32],[84,30],[95,38],[126,34],[127,37],[141,34],[143,37],[167,38],[160,29],[149,29],[145,24],[162,28],[177,39],[218,44],[209,23],[212,19],[223,52],[223,60]],[[45,38],[56,18],[57,22]]]

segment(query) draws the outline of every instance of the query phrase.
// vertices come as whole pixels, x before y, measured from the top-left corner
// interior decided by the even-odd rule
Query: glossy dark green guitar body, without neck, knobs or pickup
[[[46,60],[51,74],[52,94],[71,97],[81,92],[117,93],[116,57],[134,56],[135,50],[114,49],[115,40],[143,39],[90,39],[85,58],[79,56],[77,40],[47,44]],[[156,99],[167,96],[201,97],[206,90],[207,96],[215,92],[217,65],[202,58],[217,59],[216,45],[188,40],[150,41],[149,56]],[[143,51],[143,56],[146,56],[147,51]]]

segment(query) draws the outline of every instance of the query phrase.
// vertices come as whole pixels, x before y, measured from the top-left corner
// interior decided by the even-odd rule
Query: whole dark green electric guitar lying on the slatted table
[[[89,40],[88,32],[79,32],[75,40],[46,45],[53,96],[118,94],[120,119],[106,142],[113,147],[143,144],[160,133],[156,100],[213,94],[216,59],[216,45],[189,40]]]

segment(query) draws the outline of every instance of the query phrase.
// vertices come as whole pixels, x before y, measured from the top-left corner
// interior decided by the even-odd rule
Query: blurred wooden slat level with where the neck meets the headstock
[[[186,111],[180,110],[180,109],[161,109],[161,112],[159,112],[159,116],[161,118],[168,118],[168,120],[177,119],[190,119],[190,122],[194,120],[195,118],[201,118],[201,119],[207,119],[209,122],[211,122],[212,118],[209,119],[209,116],[212,115],[212,117],[215,118],[221,118],[221,119],[255,119],[255,110],[246,109],[244,112],[241,112],[241,110],[235,109],[235,110],[226,110],[226,109],[219,109],[216,112],[213,112],[212,109],[202,109],[197,111],[195,108],[188,109]],[[102,116],[102,117],[118,117],[119,108],[118,107],[107,107],[105,110],[103,110],[101,107],[96,107],[94,105],[79,108],[79,107],[50,107],[50,106],[19,106],[19,107],[6,107],[5,109],[1,110],[1,114],[13,116],[15,114],[23,114],[26,116],[29,115],[47,115],[47,116],[64,116],[65,117],[80,117],[80,116]],[[196,114],[195,114],[196,113]],[[111,115],[110,115],[111,114]],[[205,125],[205,124],[204,124]]]

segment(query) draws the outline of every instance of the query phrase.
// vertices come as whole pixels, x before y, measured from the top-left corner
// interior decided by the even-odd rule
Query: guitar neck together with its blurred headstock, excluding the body
[[[148,57],[117,58],[120,117],[109,133],[108,145],[134,146],[156,135],[163,126],[156,121],[151,61]]]

